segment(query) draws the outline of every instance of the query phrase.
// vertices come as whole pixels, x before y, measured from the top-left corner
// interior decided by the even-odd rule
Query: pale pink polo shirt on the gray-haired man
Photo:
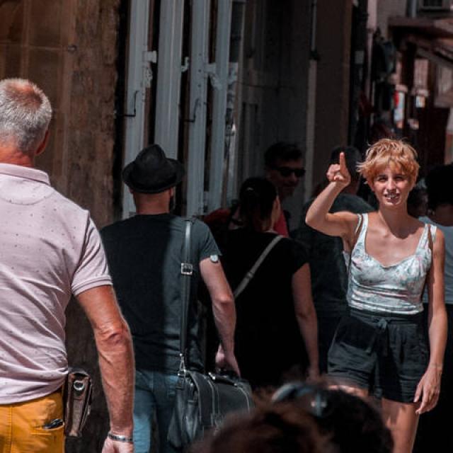
[[[40,398],[67,374],[71,294],[111,285],[90,214],[47,173],[0,164],[0,404]]]

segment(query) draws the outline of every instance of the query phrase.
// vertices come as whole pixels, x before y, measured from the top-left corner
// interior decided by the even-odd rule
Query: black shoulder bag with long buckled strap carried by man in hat
[[[188,305],[193,265],[190,260],[190,229],[187,220],[181,264],[180,370],[176,384],[173,416],[168,428],[168,442],[176,449],[184,449],[199,440],[207,430],[217,429],[226,415],[250,411],[253,407],[251,387],[234,373],[204,374],[185,367]]]

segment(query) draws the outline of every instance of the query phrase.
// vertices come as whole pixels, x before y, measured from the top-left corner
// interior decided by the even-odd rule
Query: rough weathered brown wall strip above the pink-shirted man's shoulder
[[[71,42],[67,116],[67,195],[88,207],[98,226],[113,213],[113,144],[120,0],[80,0]]]

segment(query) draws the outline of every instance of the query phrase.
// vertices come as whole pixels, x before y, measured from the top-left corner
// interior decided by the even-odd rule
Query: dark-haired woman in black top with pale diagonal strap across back
[[[222,262],[237,289],[265,248],[275,240],[280,201],[272,183],[249,178],[240,190],[243,228],[226,238]],[[242,377],[256,388],[278,385],[304,367],[318,375],[316,313],[305,253],[291,239],[275,243],[255,275],[236,297],[236,358]],[[237,292],[237,291],[236,291]],[[305,343],[305,348],[304,348]],[[306,355],[309,365],[306,367]],[[292,376],[294,377],[294,376]]]

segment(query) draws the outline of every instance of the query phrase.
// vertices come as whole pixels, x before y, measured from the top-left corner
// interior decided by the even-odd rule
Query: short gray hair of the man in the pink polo
[[[45,93],[25,79],[0,81],[0,139],[11,141],[19,151],[35,151],[44,140],[52,119]]]

